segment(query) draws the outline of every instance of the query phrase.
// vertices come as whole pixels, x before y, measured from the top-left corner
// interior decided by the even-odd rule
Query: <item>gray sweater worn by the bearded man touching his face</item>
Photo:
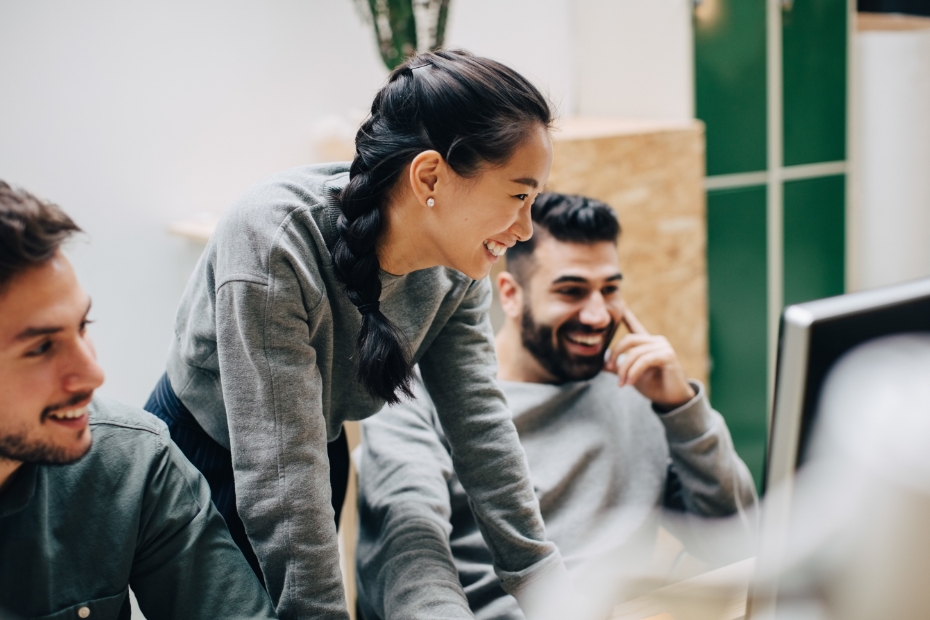
[[[692,385],[694,399],[659,414],[608,373],[564,385],[501,382],[546,534],[570,571],[608,551],[643,570],[660,507],[727,516],[754,504],[752,477],[723,418],[703,386]],[[475,524],[452,467],[455,447],[429,394],[418,390],[415,402],[363,423],[357,562],[364,618],[522,620],[491,569],[496,543]]]

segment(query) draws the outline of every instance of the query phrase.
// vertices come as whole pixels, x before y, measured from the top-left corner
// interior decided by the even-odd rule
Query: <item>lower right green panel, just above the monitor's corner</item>
[[[785,183],[785,305],[845,289],[846,177]]]

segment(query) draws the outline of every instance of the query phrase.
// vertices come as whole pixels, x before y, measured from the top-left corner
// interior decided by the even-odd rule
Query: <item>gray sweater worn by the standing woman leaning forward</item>
[[[288,170],[229,209],[184,292],[168,358],[178,398],[232,452],[237,509],[286,619],[348,617],[326,444],[383,405],[355,379],[361,315],[330,259],[331,192],[347,171]],[[437,267],[382,281],[381,309],[423,368],[505,587],[564,571],[494,378],[488,280]]]

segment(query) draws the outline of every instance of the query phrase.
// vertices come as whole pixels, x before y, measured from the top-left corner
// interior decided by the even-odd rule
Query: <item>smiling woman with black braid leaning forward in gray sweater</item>
[[[487,316],[491,266],[532,234],[551,120],[512,69],[421,54],[375,97],[350,166],[282,172],[217,226],[146,408],[210,482],[280,617],[348,617],[342,425],[409,396],[417,363],[504,587],[529,620],[571,615],[527,603],[568,582],[495,381]]]

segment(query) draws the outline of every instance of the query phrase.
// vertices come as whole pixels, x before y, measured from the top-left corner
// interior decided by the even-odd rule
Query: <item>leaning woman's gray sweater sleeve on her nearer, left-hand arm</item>
[[[278,615],[347,620],[312,291],[293,269],[281,261],[265,280],[231,277],[216,294],[236,506]]]

